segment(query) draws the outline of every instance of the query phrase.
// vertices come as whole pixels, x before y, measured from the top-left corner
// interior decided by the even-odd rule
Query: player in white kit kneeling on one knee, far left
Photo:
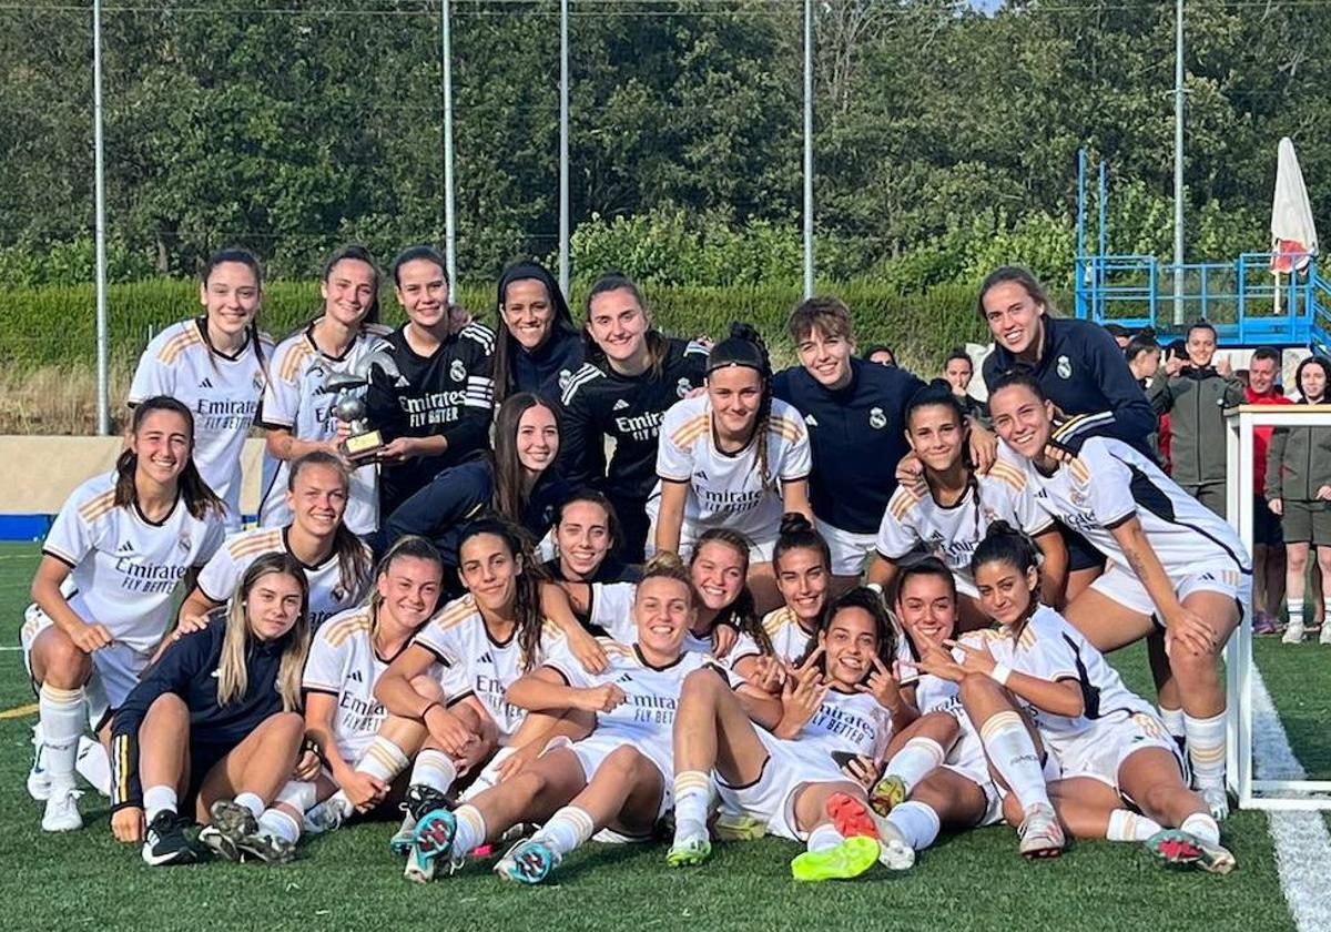
[[[79,739],[134,688],[180,581],[221,546],[226,506],[200,477],[193,443],[188,407],[144,398],[116,469],[75,490],[41,547],[20,639],[40,710],[41,768],[28,783],[47,802],[48,832],[83,827]]]

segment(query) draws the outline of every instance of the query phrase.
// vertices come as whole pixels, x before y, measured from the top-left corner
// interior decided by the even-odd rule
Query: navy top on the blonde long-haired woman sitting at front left
[[[226,620],[184,635],[144,671],[112,722],[112,808],[142,806],[138,786],[138,728],[148,707],[173,692],[189,707],[190,743],[237,746],[265,719],[282,711],[277,674],[291,634],[277,640],[250,639],[245,652],[245,695],[225,706],[217,702],[217,670],[226,638]],[[202,775],[200,775],[202,776]]]

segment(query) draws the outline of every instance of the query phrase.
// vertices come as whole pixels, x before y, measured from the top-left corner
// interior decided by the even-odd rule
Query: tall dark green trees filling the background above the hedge
[[[575,272],[797,280],[803,4],[571,7]],[[1014,257],[1066,284],[1081,145],[1111,165],[1111,245],[1169,250],[1173,0],[816,8],[820,272],[916,290]],[[453,7],[475,281],[558,245],[558,15]],[[1322,3],[1189,0],[1194,256],[1266,245],[1282,134],[1331,216],[1328,27]],[[189,274],[228,242],[307,277],[337,242],[442,240],[438,0],[145,0],[102,31],[116,278]],[[0,282],[87,280],[91,138],[89,11],[5,5]]]

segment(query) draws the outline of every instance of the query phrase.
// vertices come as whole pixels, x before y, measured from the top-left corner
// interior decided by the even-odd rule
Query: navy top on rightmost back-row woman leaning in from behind
[[[1044,330],[1044,349],[1034,363],[994,345],[984,365],[989,390],[1006,373],[1026,371],[1067,418],[1054,433],[1055,441],[1075,450],[1087,437],[1114,437],[1154,459],[1149,438],[1157,429],[1155,411],[1109,332],[1090,321],[1049,314]]]

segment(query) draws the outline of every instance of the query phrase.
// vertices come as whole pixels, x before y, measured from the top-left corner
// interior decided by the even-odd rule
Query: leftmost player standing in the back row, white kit
[[[158,333],[138,358],[129,406],[170,395],[194,413],[194,463],[241,526],[241,450],[268,382],[273,341],[254,318],[264,300],[258,260],[224,249],[204,266],[204,316]]]

